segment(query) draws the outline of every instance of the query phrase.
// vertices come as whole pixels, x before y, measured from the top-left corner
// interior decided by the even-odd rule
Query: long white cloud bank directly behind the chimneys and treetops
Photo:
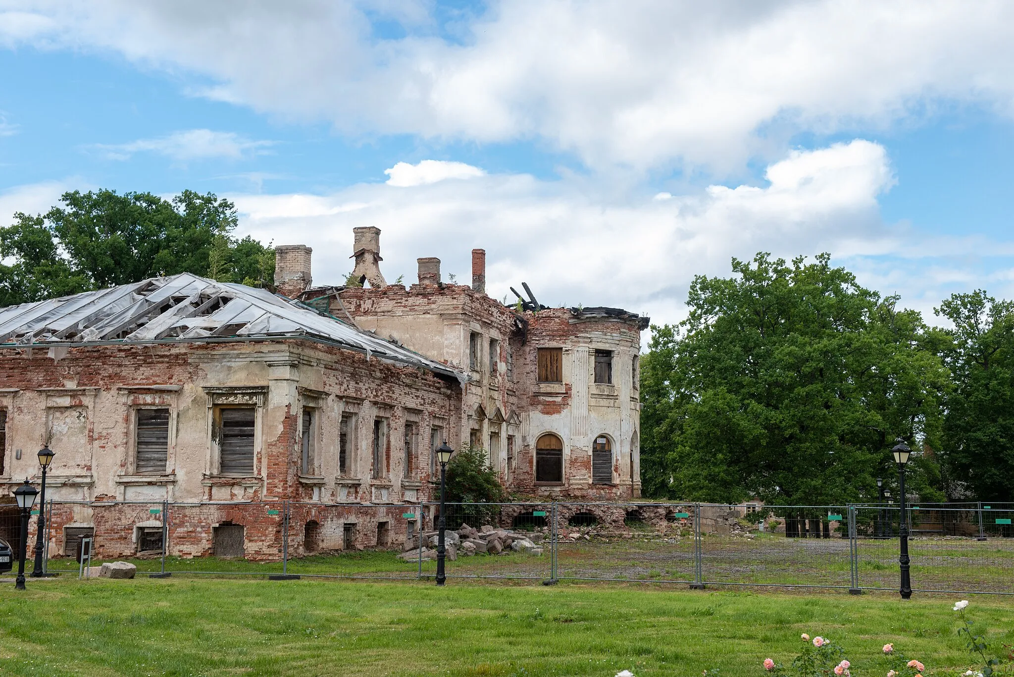
[[[320,283],[348,273],[352,228],[375,225],[383,230],[388,280],[404,274],[414,281],[416,258],[423,256],[440,257],[445,280],[448,273],[467,280],[469,251],[482,247],[493,296],[526,281],[545,303],[617,306],[662,322],[682,316],[695,275],[728,276],[731,257],[748,259],[758,251],[786,258],[830,252],[859,271],[862,282],[900,291],[924,312],[943,297],[930,298],[926,289],[945,294],[964,288],[967,279],[1002,281],[966,260],[984,251],[980,241],[926,241],[882,222],[876,198],[893,176],[876,143],[796,150],[771,164],[767,177],[766,187],[714,186],[664,201],[650,193],[613,198],[582,179],[541,182],[526,175],[411,188],[361,184],[320,196],[229,197],[242,213],[242,231],[313,247],[313,278]],[[1014,245],[992,243],[986,251],[1010,255]]]

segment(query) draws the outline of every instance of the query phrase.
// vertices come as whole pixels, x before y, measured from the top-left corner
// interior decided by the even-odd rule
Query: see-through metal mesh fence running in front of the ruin
[[[48,570],[96,562],[141,574],[423,580],[436,574],[439,504],[49,501]],[[906,511],[913,588],[1014,594],[1012,503]],[[891,590],[896,505],[685,502],[448,503],[448,579],[579,580]],[[29,540],[34,542],[35,520]]]

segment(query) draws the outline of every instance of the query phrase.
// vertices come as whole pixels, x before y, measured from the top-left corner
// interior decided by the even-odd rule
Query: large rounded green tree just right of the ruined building
[[[650,495],[841,503],[893,479],[896,437],[935,445],[947,374],[920,315],[829,255],[804,261],[733,260],[735,277],[694,280],[685,321],[654,328],[641,362]]]

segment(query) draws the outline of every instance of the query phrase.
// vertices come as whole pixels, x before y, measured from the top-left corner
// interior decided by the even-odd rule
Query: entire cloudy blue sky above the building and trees
[[[0,217],[211,191],[317,282],[374,224],[389,279],[485,247],[498,296],[668,322],[733,256],[829,251],[929,319],[1014,296],[1014,16],[957,7],[3,2]]]

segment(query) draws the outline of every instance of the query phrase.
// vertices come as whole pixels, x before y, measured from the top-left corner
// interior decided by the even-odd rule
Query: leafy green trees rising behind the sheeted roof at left
[[[235,206],[208,193],[171,200],[151,193],[72,191],[45,215],[14,214],[0,228],[0,303],[9,306],[191,272],[264,285],[274,255],[233,239]]]

